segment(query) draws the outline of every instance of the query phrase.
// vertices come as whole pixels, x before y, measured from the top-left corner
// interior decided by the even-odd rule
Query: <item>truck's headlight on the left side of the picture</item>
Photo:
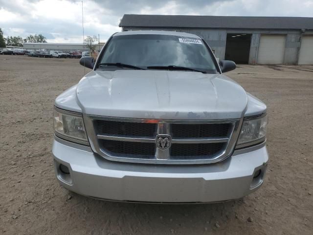
[[[57,136],[69,141],[88,144],[83,117],[79,113],[63,111],[55,108],[53,111],[53,127]]]

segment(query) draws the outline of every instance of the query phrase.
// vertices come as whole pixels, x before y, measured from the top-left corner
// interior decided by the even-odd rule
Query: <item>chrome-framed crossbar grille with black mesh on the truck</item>
[[[153,164],[215,163],[228,157],[242,119],[150,120],[84,116],[92,149],[112,161]],[[157,135],[172,145],[156,147]]]

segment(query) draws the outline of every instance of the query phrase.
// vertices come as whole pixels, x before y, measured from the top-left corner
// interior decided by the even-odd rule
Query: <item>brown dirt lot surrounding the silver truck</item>
[[[77,59],[0,55],[0,234],[313,234],[313,66],[227,74],[268,105],[270,162],[257,192],[204,205],[105,202],[59,186],[53,101],[83,75]]]

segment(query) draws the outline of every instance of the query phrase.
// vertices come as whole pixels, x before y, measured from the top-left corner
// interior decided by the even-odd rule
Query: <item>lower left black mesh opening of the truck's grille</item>
[[[125,142],[100,140],[103,148],[115,154],[133,154],[154,157],[156,152],[155,143]]]

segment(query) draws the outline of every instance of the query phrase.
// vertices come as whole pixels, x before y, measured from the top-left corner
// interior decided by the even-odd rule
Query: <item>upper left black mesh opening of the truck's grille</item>
[[[154,137],[156,124],[95,120],[97,134]]]

